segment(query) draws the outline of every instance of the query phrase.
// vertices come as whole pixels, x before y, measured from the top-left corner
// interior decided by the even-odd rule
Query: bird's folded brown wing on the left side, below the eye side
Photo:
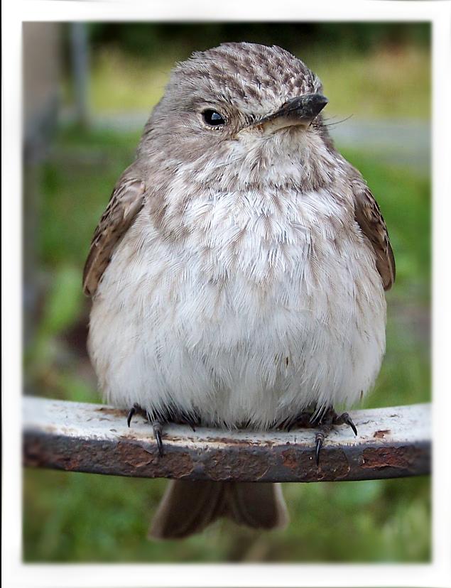
[[[111,259],[114,247],[143,207],[144,184],[123,175],[113,190],[107,209],[95,229],[83,271],[83,291],[93,296]]]

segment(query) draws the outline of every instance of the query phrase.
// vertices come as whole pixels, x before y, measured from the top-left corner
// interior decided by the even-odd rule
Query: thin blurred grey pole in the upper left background
[[[89,126],[89,49],[86,23],[70,23],[70,50],[75,91],[75,120]]]

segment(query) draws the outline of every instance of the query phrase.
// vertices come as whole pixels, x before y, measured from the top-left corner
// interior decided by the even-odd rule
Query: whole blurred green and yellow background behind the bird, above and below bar
[[[429,26],[91,23],[85,32],[88,119],[80,124],[74,115],[66,24],[58,44],[58,120],[45,156],[26,159],[25,165],[31,178],[25,201],[31,204],[24,213],[24,294],[33,301],[26,320],[26,392],[100,401],[85,347],[89,300],[81,291],[94,227],[116,179],[134,158],[143,122],[173,63],[192,50],[248,40],[281,45],[320,75],[337,146],[362,171],[388,225],[397,280],[387,294],[386,359],[364,406],[430,401]],[[415,140],[404,139],[409,136]],[[430,559],[428,478],[285,484],[287,530],[256,533],[220,521],[201,535],[168,543],[146,539],[164,480],[29,469],[23,482],[28,562]]]

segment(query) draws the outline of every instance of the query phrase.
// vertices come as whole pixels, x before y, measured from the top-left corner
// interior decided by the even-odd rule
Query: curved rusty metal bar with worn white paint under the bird
[[[224,481],[342,481],[430,473],[430,405],[354,410],[315,464],[312,429],[253,432],[168,425],[165,454],[136,415],[106,405],[23,400],[23,462],[74,472]]]

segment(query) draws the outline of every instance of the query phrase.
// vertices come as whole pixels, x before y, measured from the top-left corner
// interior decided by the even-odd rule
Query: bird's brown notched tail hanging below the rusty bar
[[[173,480],[153,518],[149,538],[182,539],[222,516],[256,529],[288,524],[280,484]]]

